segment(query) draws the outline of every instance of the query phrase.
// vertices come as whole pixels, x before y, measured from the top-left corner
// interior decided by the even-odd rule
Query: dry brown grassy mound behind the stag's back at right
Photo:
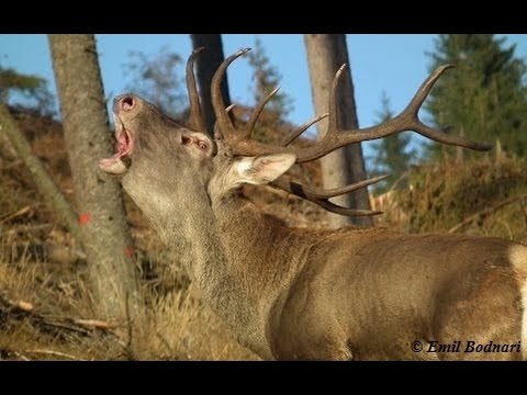
[[[408,190],[375,200],[386,212],[379,221],[410,233],[448,232],[461,224],[456,233],[524,241],[526,165],[502,156],[416,167],[408,172]]]

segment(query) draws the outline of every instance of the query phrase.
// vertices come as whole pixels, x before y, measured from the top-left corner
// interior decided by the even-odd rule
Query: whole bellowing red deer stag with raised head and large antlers
[[[527,341],[526,247],[460,235],[293,228],[259,212],[239,193],[244,183],[270,183],[332,212],[371,215],[375,213],[340,207],[328,199],[379,178],[316,191],[282,174],[295,162],[403,131],[490,149],[428,127],[417,116],[450,66],[436,69],[399,115],[358,131],[337,124],[341,68],[332,88],[326,137],[293,149],[289,144],[311,123],[281,144],[250,139],[273,92],[258,103],[242,131],[228,116],[220,87],[228,65],[247,50],[228,57],[213,78],[214,139],[201,115],[194,52],[187,66],[189,127],[137,95],[120,95],[113,105],[116,154],[100,163],[105,172],[119,174],[166,245],[182,256],[203,298],[237,340],[262,359],[527,358],[520,350]]]

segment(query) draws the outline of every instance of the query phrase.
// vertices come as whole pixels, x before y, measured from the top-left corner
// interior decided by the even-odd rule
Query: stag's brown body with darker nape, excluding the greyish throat
[[[247,311],[262,312],[254,319],[273,358],[437,359],[426,352],[427,341],[522,339],[527,248],[520,245],[386,229],[295,229],[250,205],[233,198],[213,202],[213,210],[220,229],[229,229],[220,238],[248,292],[237,298]],[[425,343],[424,352],[413,351],[415,340]]]

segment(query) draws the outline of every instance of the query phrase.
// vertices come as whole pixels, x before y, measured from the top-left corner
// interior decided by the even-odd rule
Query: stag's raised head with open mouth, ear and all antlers
[[[194,190],[203,192],[208,189],[215,167],[215,173],[224,172],[221,177],[216,177],[218,183],[224,184],[223,187],[218,185],[217,191],[225,190],[226,185],[228,188],[239,187],[244,182],[266,182],[318,204],[330,212],[343,215],[372,215],[379,213],[340,207],[329,202],[328,199],[365,188],[382,180],[384,177],[365,180],[330,191],[316,191],[292,182],[288,178],[278,177],[294,162],[315,160],[345,145],[381,138],[404,131],[414,131],[436,142],[475,150],[487,150],[492,147],[487,144],[470,142],[461,136],[447,135],[442,131],[434,129],[421,122],[418,111],[423,102],[444,71],[452,67],[450,65],[436,69],[418,89],[406,109],[399,115],[380,125],[352,131],[341,129],[337,124],[336,94],[340,76],[346,67],[344,65],[337,71],[333,82],[328,114],[318,116],[300,126],[276,145],[251,140],[250,135],[261,111],[278,89],[271,91],[257,104],[242,131],[234,127],[228,115],[229,109],[225,108],[220,91],[228,65],[244,55],[248,50],[247,48],[229,56],[214,75],[212,102],[217,121],[215,140],[213,142],[205,133],[193,75],[195,57],[201,50],[202,48],[194,50],[187,64],[187,86],[190,98],[189,127],[178,125],[156,106],[137,95],[122,94],[115,98],[113,116],[117,140],[116,154],[110,159],[101,160],[100,167],[109,173],[122,176],[123,185],[126,190],[134,189],[128,180],[139,179],[141,182],[148,180],[149,183],[157,183],[158,188],[152,189],[155,191],[166,190],[166,188],[161,188],[162,185],[177,184],[178,188],[175,188],[175,190],[181,192]],[[328,129],[321,142],[300,149],[290,146],[311,125],[326,116],[329,116]],[[273,156],[265,159],[265,156],[268,155]],[[232,166],[224,163],[225,158],[229,158]],[[216,159],[215,166],[213,165],[214,159]],[[246,177],[255,171],[255,174],[258,174],[258,171],[264,170],[273,172],[272,177],[270,177],[270,173],[261,174],[264,176],[261,179]],[[149,200],[147,196],[139,198],[139,191],[128,192],[145,203]],[[179,199],[179,196],[173,198],[173,191],[170,191],[169,194],[172,202],[184,200]]]

